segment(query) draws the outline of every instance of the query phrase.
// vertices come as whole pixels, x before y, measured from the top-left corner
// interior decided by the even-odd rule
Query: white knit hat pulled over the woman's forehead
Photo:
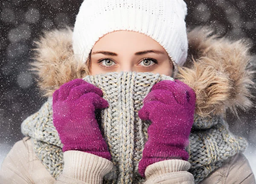
[[[75,57],[86,62],[99,38],[128,30],[153,38],[183,65],[188,49],[186,14],[183,0],[84,0],[73,32]]]

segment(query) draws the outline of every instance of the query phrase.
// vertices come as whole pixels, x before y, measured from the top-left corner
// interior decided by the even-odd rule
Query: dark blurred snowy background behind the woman
[[[232,40],[247,38],[256,54],[255,0],[185,0],[189,29],[208,25]],[[52,29],[73,26],[82,0],[0,0],[0,165],[23,138],[22,121],[47,100],[28,71],[33,41]],[[252,63],[255,64],[254,61]],[[256,175],[256,108],[229,116],[230,129],[247,138],[245,155]],[[1,167],[1,166],[0,166]]]

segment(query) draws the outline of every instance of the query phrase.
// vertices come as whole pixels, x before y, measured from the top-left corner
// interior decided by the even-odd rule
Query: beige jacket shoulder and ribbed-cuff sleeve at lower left
[[[7,154],[0,170],[1,184],[100,184],[113,164],[96,155],[64,152],[64,169],[57,181],[35,155],[32,140],[25,137],[17,141]]]

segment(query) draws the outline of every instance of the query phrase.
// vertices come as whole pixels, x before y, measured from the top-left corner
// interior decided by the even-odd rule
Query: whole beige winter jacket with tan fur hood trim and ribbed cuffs
[[[251,72],[245,67],[249,55],[241,42],[215,40],[210,32],[195,29],[188,34],[191,58],[179,69],[177,78],[192,87],[197,94],[196,113],[208,115],[223,114],[227,108],[248,106],[250,95],[246,84],[250,83]],[[38,42],[38,81],[46,96],[63,83],[87,75],[87,68],[73,62],[70,30],[48,33]],[[68,41],[67,41],[68,40]],[[221,49],[220,49],[221,48]],[[230,60],[232,62],[230,62]],[[221,91],[216,90],[221,89]],[[232,98],[230,98],[232,97]],[[236,110],[236,109],[233,109]],[[18,141],[6,156],[1,170],[0,182],[47,183],[47,184],[98,184],[111,161],[86,152],[64,152],[64,169],[57,181],[42,164],[32,147],[32,138],[24,137]],[[194,176],[189,173],[189,162],[167,160],[147,167],[145,184],[193,184]],[[256,184],[250,164],[242,154],[229,157],[220,168],[201,181],[201,184]]]

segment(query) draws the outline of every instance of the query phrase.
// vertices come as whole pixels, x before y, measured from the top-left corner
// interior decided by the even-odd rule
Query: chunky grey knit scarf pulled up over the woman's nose
[[[114,167],[105,175],[103,183],[143,184],[145,179],[138,174],[138,164],[150,122],[141,121],[138,111],[155,83],[173,78],[152,73],[111,72],[88,75],[84,80],[102,89],[103,98],[109,103],[99,116],[99,126],[104,131]],[[32,138],[36,155],[49,173],[58,178],[64,167],[63,144],[52,124],[52,98],[23,121],[21,131]],[[194,175],[195,183],[247,147],[247,142],[234,136],[221,117],[195,115],[189,141],[187,151],[192,164],[189,172]]]

